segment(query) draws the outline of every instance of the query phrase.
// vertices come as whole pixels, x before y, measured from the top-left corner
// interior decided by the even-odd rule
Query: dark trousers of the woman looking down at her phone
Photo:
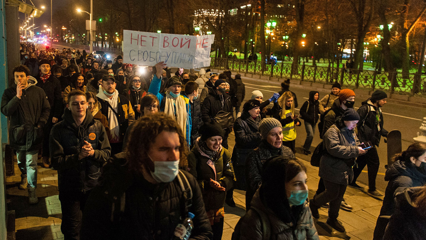
[[[315,196],[311,204],[320,208],[329,202],[328,218],[336,219],[339,217],[340,204],[342,203],[343,195],[345,195],[347,185],[337,184],[325,179],[322,180],[324,181],[325,191]]]

